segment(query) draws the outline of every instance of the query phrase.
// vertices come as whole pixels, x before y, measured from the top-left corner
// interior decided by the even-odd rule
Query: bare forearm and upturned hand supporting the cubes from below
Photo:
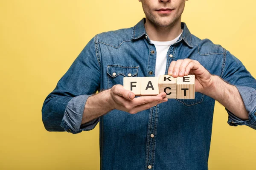
[[[167,102],[165,92],[156,96],[140,96],[126,90],[122,85],[114,85],[112,88],[88,97],[81,124],[90,122],[113,109],[125,111],[131,114],[149,109],[154,105]]]

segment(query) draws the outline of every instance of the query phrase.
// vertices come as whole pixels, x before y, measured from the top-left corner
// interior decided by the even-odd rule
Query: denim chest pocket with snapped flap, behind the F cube
[[[108,65],[107,74],[108,74],[108,88],[112,88],[113,85],[123,85],[124,77],[137,77],[138,76],[138,66],[133,65],[117,65],[111,64]]]

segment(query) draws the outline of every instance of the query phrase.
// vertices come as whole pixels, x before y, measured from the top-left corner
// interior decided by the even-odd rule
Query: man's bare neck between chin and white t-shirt
[[[178,35],[181,34],[182,29],[180,28],[181,17],[177,22],[168,27],[156,26],[150,20],[146,18],[145,30],[150,40],[153,41],[171,41],[174,40]]]

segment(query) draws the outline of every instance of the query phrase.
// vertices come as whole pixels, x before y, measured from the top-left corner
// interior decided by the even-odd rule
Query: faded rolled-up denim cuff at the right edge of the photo
[[[243,99],[246,110],[249,112],[248,120],[240,119],[226,108],[228,113],[227,123],[230,126],[247,125],[256,130],[256,90],[251,87],[239,85],[236,85],[236,88]]]

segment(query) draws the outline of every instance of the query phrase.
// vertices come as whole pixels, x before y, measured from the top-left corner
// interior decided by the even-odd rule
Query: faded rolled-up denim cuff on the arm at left
[[[63,127],[65,131],[76,134],[80,133],[82,130],[92,130],[97,125],[99,118],[81,125],[85,103],[88,97],[92,95],[93,94],[84,94],[76,96],[68,102],[64,116],[61,120],[61,127]]]

